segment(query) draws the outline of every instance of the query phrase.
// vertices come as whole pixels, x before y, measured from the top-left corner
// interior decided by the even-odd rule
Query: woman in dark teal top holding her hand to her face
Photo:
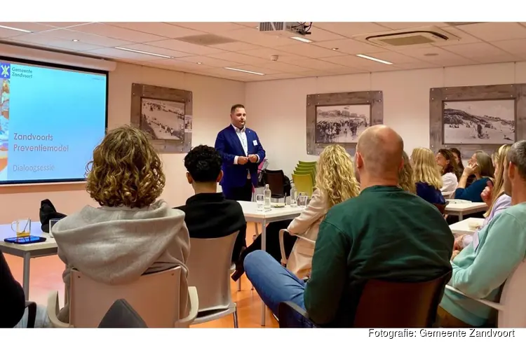
[[[487,186],[487,181],[493,181],[492,176],[495,172],[492,158],[483,151],[476,151],[468,160],[468,166],[464,168],[459,180],[459,186],[455,190],[454,197],[457,200],[468,200],[471,202],[483,202],[482,194]],[[468,176],[474,175],[475,181],[466,188]]]

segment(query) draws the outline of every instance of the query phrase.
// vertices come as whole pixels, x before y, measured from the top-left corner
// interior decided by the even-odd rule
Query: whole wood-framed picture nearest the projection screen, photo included
[[[192,102],[191,91],[133,83],[130,122],[149,134],[157,152],[188,153]]]

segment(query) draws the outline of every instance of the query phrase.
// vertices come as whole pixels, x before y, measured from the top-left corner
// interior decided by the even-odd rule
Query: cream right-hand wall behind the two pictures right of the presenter
[[[269,169],[290,174],[306,154],[306,95],[381,90],[384,124],[404,139],[405,151],[429,147],[431,87],[526,83],[526,62],[386,71],[346,76],[251,82],[245,88],[248,125],[267,151]]]

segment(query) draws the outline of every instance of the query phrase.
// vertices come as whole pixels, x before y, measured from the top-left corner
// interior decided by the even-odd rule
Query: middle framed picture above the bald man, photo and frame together
[[[368,111],[368,113],[367,113]],[[353,155],[360,132],[384,123],[382,91],[332,92],[306,97],[306,151],[320,155],[339,144]]]

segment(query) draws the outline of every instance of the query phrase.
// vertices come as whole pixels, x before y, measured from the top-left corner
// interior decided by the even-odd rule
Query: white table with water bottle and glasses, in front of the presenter
[[[305,209],[303,207],[292,208],[285,206],[283,208],[272,208],[270,211],[258,211],[256,202],[238,201],[243,208],[245,220],[251,223],[261,223],[261,249],[265,251],[267,248],[267,223],[274,223],[276,221],[291,220]],[[265,325],[265,311],[266,306],[261,302],[261,325]]]

